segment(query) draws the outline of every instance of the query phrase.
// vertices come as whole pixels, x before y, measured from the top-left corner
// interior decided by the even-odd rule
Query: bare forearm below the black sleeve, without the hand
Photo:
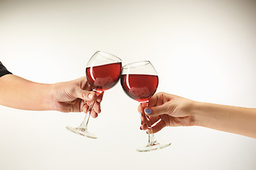
[[[53,110],[50,84],[38,84],[12,74],[0,78],[0,104],[23,110]]]

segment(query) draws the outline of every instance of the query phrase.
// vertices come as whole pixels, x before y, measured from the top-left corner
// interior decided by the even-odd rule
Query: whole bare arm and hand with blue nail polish
[[[191,101],[161,92],[149,99],[148,107],[139,105],[138,110],[142,113],[140,129],[147,130],[146,114],[154,133],[166,126],[197,125],[256,138],[256,108]]]

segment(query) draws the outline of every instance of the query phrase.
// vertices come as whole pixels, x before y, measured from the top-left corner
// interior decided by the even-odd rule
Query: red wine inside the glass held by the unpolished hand
[[[87,81],[97,91],[112,88],[119,80],[122,62],[86,68]]]

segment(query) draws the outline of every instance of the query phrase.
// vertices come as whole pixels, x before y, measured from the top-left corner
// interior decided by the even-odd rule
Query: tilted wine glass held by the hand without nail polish
[[[86,67],[87,83],[92,87],[92,91],[95,91],[97,96],[112,88],[119,81],[122,70],[122,60],[119,57],[111,55],[107,52],[97,51],[90,58]],[[96,101],[97,98],[95,98]],[[88,111],[85,115],[85,119],[78,128],[67,126],[66,128],[71,132],[75,132],[78,135],[97,139],[96,135],[88,132],[87,125],[90,118],[90,112],[95,103],[92,101]]]

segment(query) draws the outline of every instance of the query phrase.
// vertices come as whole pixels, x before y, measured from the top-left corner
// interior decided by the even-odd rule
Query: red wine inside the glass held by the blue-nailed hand
[[[148,101],[156,92],[158,76],[146,74],[122,74],[121,84],[124,92],[136,101]]]

